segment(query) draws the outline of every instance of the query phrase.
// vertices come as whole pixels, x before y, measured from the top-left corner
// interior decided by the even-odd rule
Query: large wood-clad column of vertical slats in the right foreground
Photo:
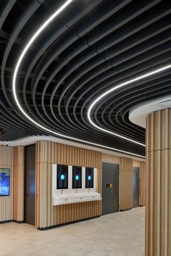
[[[171,255],[171,109],[147,117],[146,256]]]

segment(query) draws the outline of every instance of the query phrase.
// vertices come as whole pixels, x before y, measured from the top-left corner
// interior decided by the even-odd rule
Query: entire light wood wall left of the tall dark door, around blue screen
[[[0,197],[0,221],[23,220],[23,146],[0,146],[0,168],[10,169],[9,197]]]

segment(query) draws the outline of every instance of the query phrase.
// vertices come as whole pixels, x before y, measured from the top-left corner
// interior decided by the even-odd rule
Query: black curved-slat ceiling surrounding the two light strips
[[[14,102],[12,77],[28,40],[59,0],[0,1],[1,141],[50,135],[30,123]],[[145,155],[144,146],[94,128],[91,103],[114,85],[171,63],[171,1],[74,0],[36,39],[17,75],[23,110],[51,131]],[[120,88],[93,107],[96,125],[145,144],[130,123],[138,103],[170,94],[170,69]]]

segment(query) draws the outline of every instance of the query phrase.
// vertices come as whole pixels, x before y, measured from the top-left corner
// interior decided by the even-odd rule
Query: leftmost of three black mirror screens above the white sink
[[[68,165],[57,165],[57,189],[68,189]]]

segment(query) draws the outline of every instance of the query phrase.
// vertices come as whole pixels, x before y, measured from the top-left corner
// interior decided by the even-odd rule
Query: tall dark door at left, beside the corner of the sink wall
[[[36,145],[25,146],[25,223],[35,225]]]

